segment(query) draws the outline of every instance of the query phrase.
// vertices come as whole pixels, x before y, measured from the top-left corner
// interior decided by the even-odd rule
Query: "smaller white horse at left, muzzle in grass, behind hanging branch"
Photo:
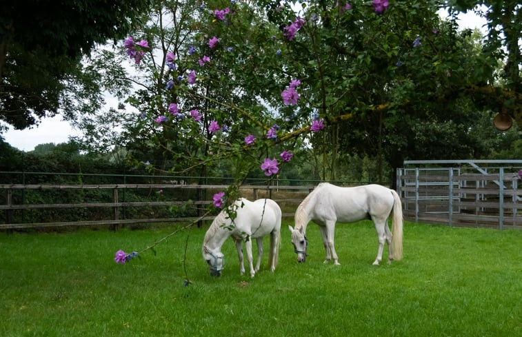
[[[235,212],[232,220],[229,214]],[[221,246],[229,236],[234,238],[239,256],[241,275],[245,274],[243,265],[243,249],[241,241],[245,241],[250,276],[254,277],[261,265],[263,254],[263,236],[270,234],[270,254],[268,268],[273,272],[277,265],[279,245],[281,241],[281,208],[271,199],[248,201],[240,198],[229,207],[229,212],[221,211],[212,225],[208,228],[203,240],[203,259],[208,263],[211,276],[221,276],[221,269],[225,265],[225,256],[221,253]],[[257,263],[254,269],[252,264],[252,239],[257,240]]]

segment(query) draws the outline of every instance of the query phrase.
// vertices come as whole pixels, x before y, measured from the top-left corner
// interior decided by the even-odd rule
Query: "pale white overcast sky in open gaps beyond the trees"
[[[444,13],[439,12],[439,14],[441,14],[441,17],[445,16]],[[472,12],[459,15],[459,25],[462,29],[479,28],[485,34],[485,29],[482,27],[484,24],[485,21],[476,17]],[[55,116],[43,119],[37,127],[32,127],[29,130],[13,130],[10,128],[2,136],[12,147],[17,147],[17,149],[23,151],[32,151],[36,145],[66,143],[69,136],[78,136],[79,134],[80,132],[73,130],[68,122],[62,121],[61,116]]]

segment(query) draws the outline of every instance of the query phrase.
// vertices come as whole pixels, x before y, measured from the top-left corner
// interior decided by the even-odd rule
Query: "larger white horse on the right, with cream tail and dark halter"
[[[392,232],[388,227],[388,216],[393,211]],[[371,219],[377,229],[379,249],[374,265],[379,265],[383,257],[384,243],[388,243],[388,258],[400,260],[403,252],[403,212],[401,198],[394,191],[381,185],[364,185],[358,187],[339,187],[330,183],[319,184],[295,212],[295,229],[292,226],[292,244],[297,253],[297,261],[305,262],[306,226],[314,221],[321,229],[323,245],[326,251],[325,263],[334,259],[339,265],[334,248],[334,229],[337,221],[352,223],[363,219]]]

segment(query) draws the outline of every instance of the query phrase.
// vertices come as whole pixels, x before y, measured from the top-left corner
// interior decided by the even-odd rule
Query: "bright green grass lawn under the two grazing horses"
[[[405,223],[403,260],[376,267],[372,223],[338,225],[334,266],[323,264],[314,224],[307,262],[298,264],[289,224],[276,272],[267,270],[266,238],[253,279],[239,275],[232,241],[223,245],[223,276],[211,278],[201,257],[206,228],[192,229],[188,287],[188,232],[158,245],[156,256],[113,260],[172,227],[1,233],[0,335],[522,336],[521,231]]]

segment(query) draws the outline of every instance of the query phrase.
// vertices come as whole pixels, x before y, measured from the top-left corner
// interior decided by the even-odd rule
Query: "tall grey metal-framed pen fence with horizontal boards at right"
[[[419,164],[421,162],[415,162]],[[430,164],[433,162],[422,162]],[[490,163],[490,161],[488,161]],[[522,228],[522,161],[509,161],[509,167],[401,168],[397,190],[403,214],[415,222],[451,226]],[[436,164],[436,163],[434,163]],[[484,164],[484,163],[479,163]]]

